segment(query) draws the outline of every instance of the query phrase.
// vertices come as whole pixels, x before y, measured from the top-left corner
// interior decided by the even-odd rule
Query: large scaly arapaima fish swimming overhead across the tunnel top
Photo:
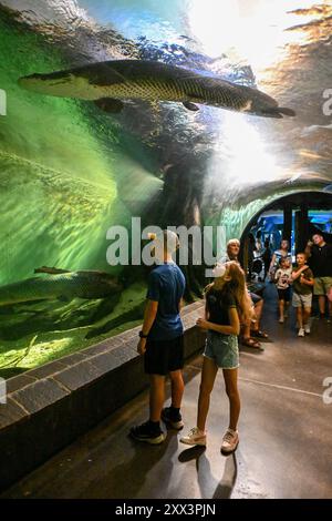
[[[46,74],[31,74],[19,84],[40,94],[91,100],[117,113],[126,100],[173,101],[197,111],[195,103],[263,118],[293,116],[258,89],[238,85],[156,61],[114,60]]]

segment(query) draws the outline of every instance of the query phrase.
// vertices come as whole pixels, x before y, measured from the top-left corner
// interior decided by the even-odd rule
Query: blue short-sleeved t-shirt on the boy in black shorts
[[[183,335],[179,302],[184,296],[185,287],[185,276],[174,263],[160,264],[151,272],[146,297],[158,302],[158,310],[148,338],[170,340]]]

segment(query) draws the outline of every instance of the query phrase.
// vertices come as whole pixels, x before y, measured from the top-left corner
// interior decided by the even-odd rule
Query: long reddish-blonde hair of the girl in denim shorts
[[[245,272],[237,260],[229,260],[226,263],[226,266],[228,267],[228,274],[220,293],[230,293],[234,296],[240,321],[248,321],[252,318],[252,305],[247,290]],[[218,290],[215,287],[215,282],[206,287],[206,295],[208,295],[211,289]]]

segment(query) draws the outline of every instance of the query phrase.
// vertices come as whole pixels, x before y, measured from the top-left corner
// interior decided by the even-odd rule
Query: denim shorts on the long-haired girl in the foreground
[[[240,365],[238,337],[208,331],[204,356],[214,360],[220,369],[237,369]]]

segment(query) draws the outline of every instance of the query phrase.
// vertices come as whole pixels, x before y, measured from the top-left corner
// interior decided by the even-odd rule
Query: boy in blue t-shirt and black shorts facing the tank
[[[183,272],[172,258],[178,247],[177,235],[165,231],[155,238],[154,244],[155,257],[159,264],[149,274],[147,305],[137,346],[139,355],[144,355],[145,372],[151,380],[149,420],[133,427],[131,435],[139,441],[157,445],[165,439],[160,418],[175,429],[184,427],[180,415],[184,394],[184,327],[179,311],[186,282]],[[172,381],[172,405],[163,409],[167,374]]]

